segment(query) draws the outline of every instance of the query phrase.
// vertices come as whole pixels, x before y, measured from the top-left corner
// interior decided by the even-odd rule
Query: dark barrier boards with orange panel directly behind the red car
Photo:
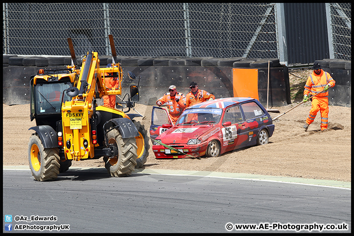
[[[140,102],[146,105],[156,105],[157,99],[168,92],[170,85],[175,85],[178,92],[186,95],[190,92],[189,84],[195,81],[199,89],[214,94],[215,98],[254,97],[266,106],[268,68],[137,66],[123,67],[123,70],[142,77],[139,83]],[[241,71],[244,73],[238,76]],[[248,73],[250,71],[255,73]],[[291,103],[289,74],[285,76],[285,71],[288,72],[287,67],[270,68],[269,106]],[[123,80],[123,93],[128,92],[130,83],[137,82]]]

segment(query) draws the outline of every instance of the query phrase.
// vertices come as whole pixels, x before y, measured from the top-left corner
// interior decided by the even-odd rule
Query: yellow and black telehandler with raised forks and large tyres
[[[29,140],[29,167],[38,181],[54,180],[81,161],[103,157],[108,173],[113,177],[129,176],[147,161],[147,131],[126,114],[139,101],[139,88],[130,86],[128,100],[116,104],[118,110],[97,106],[96,99],[104,95],[120,95],[123,71],[117,60],[113,36],[109,35],[112,67],[100,68],[97,52],[88,52],[82,67],[76,66],[74,47],[68,38],[72,64],[66,69],[40,69],[30,79],[30,119],[36,125]],[[105,86],[105,73],[119,79],[119,88]],[[130,79],[135,79],[128,72]],[[140,78],[139,78],[140,80]],[[139,83],[138,83],[139,84]]]

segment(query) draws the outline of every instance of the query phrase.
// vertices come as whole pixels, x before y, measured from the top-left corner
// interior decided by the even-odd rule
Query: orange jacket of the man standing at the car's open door
[[[178,102],[176,101],[177,98],[179,99]],[[180,92],[176,92],[175,96],[171,96],[170,93],[167,92],[156,101],[156,104],[158,101],[160,101],[162,104],[166,103],[167,110],[174,124],[186,107],[185,96]]]

